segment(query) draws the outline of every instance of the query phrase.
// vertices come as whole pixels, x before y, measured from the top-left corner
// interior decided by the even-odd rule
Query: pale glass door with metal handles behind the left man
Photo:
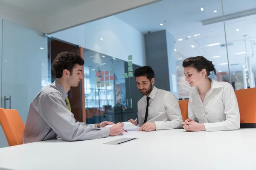
[[[29,105],[51,80],[47,37],[43,33],[3,20],[1,107],[16,109],[26,123]],[[7,147],[0,128],[0,147]]]

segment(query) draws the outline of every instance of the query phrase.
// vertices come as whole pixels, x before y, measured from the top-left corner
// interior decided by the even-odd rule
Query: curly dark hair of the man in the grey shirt
[[[73,67],[78,65],[84,65],[84,59],[73,52],[61,52],[52,62],[52,68],[56,78],[61,78],[63,70],[67,69],[70,71],[70,75],[73,74]]]

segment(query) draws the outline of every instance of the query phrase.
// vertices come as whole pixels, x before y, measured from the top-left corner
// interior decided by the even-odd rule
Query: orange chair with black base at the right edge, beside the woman
[[[256,88],[236,90],[240,128],[256,128]]]

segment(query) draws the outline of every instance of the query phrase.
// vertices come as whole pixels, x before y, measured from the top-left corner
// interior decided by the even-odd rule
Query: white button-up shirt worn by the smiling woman
[[[206,131],[238,130],[240,113],[232,85],[212,79],[204,103],[196,87],[189,97],[188,116],[204,123]]]

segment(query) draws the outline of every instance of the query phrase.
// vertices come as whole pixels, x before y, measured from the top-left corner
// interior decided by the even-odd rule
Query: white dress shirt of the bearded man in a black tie
[[[156,130],[180,128],[182,116],[177,97],[169,91],[153,87],[148,96],[148,119],[154,122]],[[138,102],[139,126],[143,125],[147,106],[147,96],[143,96]]]

